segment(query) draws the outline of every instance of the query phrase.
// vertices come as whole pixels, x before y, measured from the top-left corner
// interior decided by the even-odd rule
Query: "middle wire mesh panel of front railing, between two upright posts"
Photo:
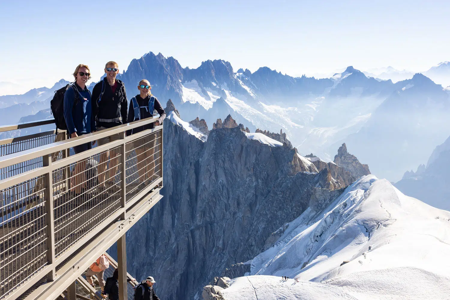
[[[120,209],[120,161],[119,146],[53,171],[56,257]]]

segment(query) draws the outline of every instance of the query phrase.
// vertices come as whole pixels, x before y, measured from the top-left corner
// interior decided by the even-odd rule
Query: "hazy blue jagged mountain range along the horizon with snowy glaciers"
[[[441,63],[430,74],[445,73],[447,65]],[[171,99],[185,120],[199,117],[211,128],[218,118],[230,114],[252,132],[283,130],[300,153],[313,152],[325,161],[332,161],[335,149],[347,143],[356,156],[368,161],[375,175],[394,182],[405,170],[426,161],[450,135],[446,117],[450,90],[419,73],[393,83],[347,67],[330,78],[316,79],[292,77],[268,67],[234,71],[220,59],[183,68],[173,57],[149,52],[133,59],[118,78],[130,97],[137,94],[137,83],[147,78],[152,93],[162,102]],[[29,93],[42,92],[42,99],[64,83]],[[24,100],[17,95],[0,97],[4,103],[25,103],[0,108],[5,116],[1,124],[49,107],[49,99],[25,95],[20,95]]]

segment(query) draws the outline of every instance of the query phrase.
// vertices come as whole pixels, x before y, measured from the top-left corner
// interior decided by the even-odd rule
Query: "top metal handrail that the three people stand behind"
[[[0,168],[4,168],[7,166],[12,166],[14,164],[28,161],[33,158],[42,157],[45,155],[50,155],[51,153],[58,152],[61,150],[65,150],[67,148],[71,148],[74,146],[78,146],[84,143],[90,143],[98,139],[106,138],[113,134],[120,134],[124,131],[134,129],[140,126],[148,125],[153,122],[158,121],[158,118],[147,118],[139,121],[134,121],[130,123],[126,123],[123,125],[118,125],[112,128],[108,128],[105,130],[96,131],[90,134],[83,134],[79,137],[73,139],[67,139],[60,142],[54,142],[48,145],[31,148],[28,150],[24,150],[21,152],[11,153],[0,157]]]

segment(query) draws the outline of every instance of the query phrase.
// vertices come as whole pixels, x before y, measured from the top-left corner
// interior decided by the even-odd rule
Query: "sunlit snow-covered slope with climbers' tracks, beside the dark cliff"
[[[368,175],[322,211],[308,208],[292,221],[274,246],[252,260],[250,273],[320,282],[308,288],[319,293],[338,287],[354,299],[450,299],[449,251],[450,212]],[[255,281],[254,292],[263,295],[265,284],[258,285],[257,278],[249,279]],[[244,279],[234,282],[239,281]],[[293,284],[280,282],[273,294],[282,295]],[[233,285],[224,299],[245,299],[226,296]],[[293,291],[282,299],[318,299],[311,295]]]

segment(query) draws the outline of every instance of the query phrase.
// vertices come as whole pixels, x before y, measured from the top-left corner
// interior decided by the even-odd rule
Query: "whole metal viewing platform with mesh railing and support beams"
[[[162,198],[163,130],[126,131],[155,121],[74,139],[41,132],[54,120],[0,127],[12,136],[0,140],[1,300],[101,299],[83,275],[116,242],[118,259],[110,258],[104,278],[117,267],[120,299],[133,299],[125,233]],[[69,150],[117,134],[85,152]]]

